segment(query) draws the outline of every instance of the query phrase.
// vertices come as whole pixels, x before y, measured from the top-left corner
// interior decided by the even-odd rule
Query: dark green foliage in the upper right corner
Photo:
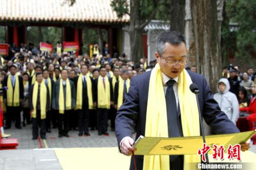
[[[238,23],[238,31],[222,30],[224,43],[229,44],[236,58],[256,56],[256,1],[226,0],[226,17]],[[236,41],[234,41],[236,40]],[[236,42],[236,44],[232,42]],[[226,49],[227,50],[227,49]]]

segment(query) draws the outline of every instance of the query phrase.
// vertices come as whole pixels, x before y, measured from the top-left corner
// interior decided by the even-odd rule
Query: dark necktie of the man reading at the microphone
[[[165,93],[166,111],[167,111],[167,122],[168,122],[168,137],[179,137],[179,125],[178,125],[178,112],[176,105],[176,98],[174,93],[174,83],[175,80],[169,80],[167,84],[167,89]],[[174,161],[178,156],[170,156],[170,161]]]

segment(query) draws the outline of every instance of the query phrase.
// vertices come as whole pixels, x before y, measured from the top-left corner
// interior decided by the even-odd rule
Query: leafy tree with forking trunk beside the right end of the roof
[[[131,56],[135,62],[143,56],[141,33],[144,27],[155,17],[159,0],[114,0],[111,3],[118,17],[130,15],[129,28],[124,31],[130,34]]]

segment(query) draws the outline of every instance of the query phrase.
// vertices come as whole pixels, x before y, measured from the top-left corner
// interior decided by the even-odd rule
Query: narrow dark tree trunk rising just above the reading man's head
[[[170,1],[170,30],[180,31],[184,34],[185,30],[185,0]]]

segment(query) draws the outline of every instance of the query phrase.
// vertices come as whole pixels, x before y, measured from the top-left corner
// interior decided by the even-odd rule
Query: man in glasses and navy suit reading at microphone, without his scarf
[[[187,63],[188,48],[186,44],[184,35],[177,31],[164,32],[157,39],[157,52],[155,56],[162,74],[162,87],[164,89],[167,110],[168,137],[179,137],[183,136],[184,133],[181,122],[181,111],[179,109],[179,100],[181,99],[178,96],[178,80]],[[132,155],[132,151],[136,150],[132,147],[134,143],[132,139],[134,128],[136,127],[136,139],[140,135],[145,136],[151,72],[148,71],[131,80],[129,92],[126,94],[125,101],[117,112],[116,137],[118,147],[121,153],[127,156]],[[238,133],[238,128],[220,110],[218,103],[212,98],[212,93],[204,76],[192,71],[187,72],[191,81],[199,86],[199,109],[210,128],[217,134]],[[157,101],[159,99],[155,100]],[[169,109],[170,105],[173,105],[172,109]],[[183,106],[186,106],[186,104]],[[169,119],[169,117],[172,118]],[[170,134],[170,132],[172,133]],[[242,151],[248,150],[249,143],[250,141],[242,143]],[[137,169],[143,169],[144,157],[136,155],[135,158]],[[169,165],[170,169],[183,169],[183,156],[173,156],[172,159],[169,159]],[[133,159],[130,169],[134,169]]]

